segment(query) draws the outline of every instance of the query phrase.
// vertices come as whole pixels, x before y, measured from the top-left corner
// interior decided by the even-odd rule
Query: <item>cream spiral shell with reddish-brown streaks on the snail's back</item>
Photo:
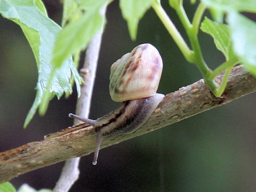
[[[156,93],[163,61],[151,44],[141,44],[111,66],[109,92],[117,102],[150,97]]]

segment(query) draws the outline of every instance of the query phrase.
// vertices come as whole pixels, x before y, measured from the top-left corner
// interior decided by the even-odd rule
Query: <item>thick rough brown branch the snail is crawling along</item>
[[[222,77],[223,74],[215,80],[220,82]],[[254,91],[256,91],[256,79],[241,66],[234,67],[231,71],[227,89],[221,98],[215,98],[201,79],[167,94],[148,121],[135,133],[109,135],[103,138],[101,148],[179,122]],[[92,127],[80,124],[71,130],[72,132],[59,137],[52,136],[0,153],[0,183],[68,158],[92,153],[95,143],[95,132]]]

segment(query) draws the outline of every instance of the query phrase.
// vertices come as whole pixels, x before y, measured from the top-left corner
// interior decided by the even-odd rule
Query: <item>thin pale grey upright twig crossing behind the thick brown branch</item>
[[[102,14],[105,15],[106,7],[102,7]],[[77,99],[76,114],[88,118],[91,106],[92,91],[94,85],[97,63],[100,53],[101,38],[103,28],[95,35],[87,47],[85,61],[80,74],[83,77],[84,84],[81,85],[81,97]],[[79,120],[74,120],[74,125],[80,123]],[[65,162],[62,168],[60,178],[54,187],[54,192],[67,192],[79,178],[79,161],[80,157],[70,158]]]

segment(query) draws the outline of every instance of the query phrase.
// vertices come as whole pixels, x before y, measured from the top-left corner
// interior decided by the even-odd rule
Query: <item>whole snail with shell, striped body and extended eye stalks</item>
[[[111,99],[122,106],[97,120],[73,117],[93,126],[97,133],[94,159],[97,164],[102,137],[109,134],[129,134],[141,127],[163,100],[156,93],[163,69],[163,61],[151,44],[141,44],[118,59],[110,70]]]

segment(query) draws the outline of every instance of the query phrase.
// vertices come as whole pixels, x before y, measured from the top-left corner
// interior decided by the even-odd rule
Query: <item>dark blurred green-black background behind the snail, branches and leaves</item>
[[[196,5],[189,2],[185,1],[185,9],[191,19]],[[44,3],[50,18],[60,23],[61,3]],[[91,105],[93,119],[119,106],[110,99],[110,70],[106,69],[138,44],[151,43],[162,55],[159,93],[173,92],[202,78],[196,66],[184,59],[153,10],[140,21],[137,40],[132,42],[118,3],[114,1],[107,9]],[[187,40],[174,10],[167,1],[162,4]],[[210,17],[209,12],[206,15]],[[220,65],[224,58],[212,38],[200,33],[199,40],[210,67]],[[36,115],[23,129],[36,94],[36,62],[19,26],[2,17],[0,55],[0,151],[42,140],[44,135],[73,124],[68,113],[75,111],[76,91],[69,99],[53,99],[46,115]],[[102,149],[97,166],[92,165],[92,154],[82,157],[80,178],[70,191],[255,191],[255,95]],[[35,170],[11,182],[16,188],[29,183],[36,189],[52,189],[62,166],[63,162]]]

